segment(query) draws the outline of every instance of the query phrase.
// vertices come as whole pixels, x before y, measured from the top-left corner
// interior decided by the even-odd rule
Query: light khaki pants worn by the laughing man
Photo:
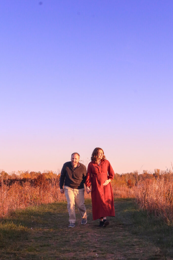
[[[84,191],[85,189],[72,189],[68,186],[64,186],[64,193],[67,199],[67,209],[69,214],[69,222],[75,223],[75,205],[78,207],[82,218],[86,217],[86,209],[84,205]]]

